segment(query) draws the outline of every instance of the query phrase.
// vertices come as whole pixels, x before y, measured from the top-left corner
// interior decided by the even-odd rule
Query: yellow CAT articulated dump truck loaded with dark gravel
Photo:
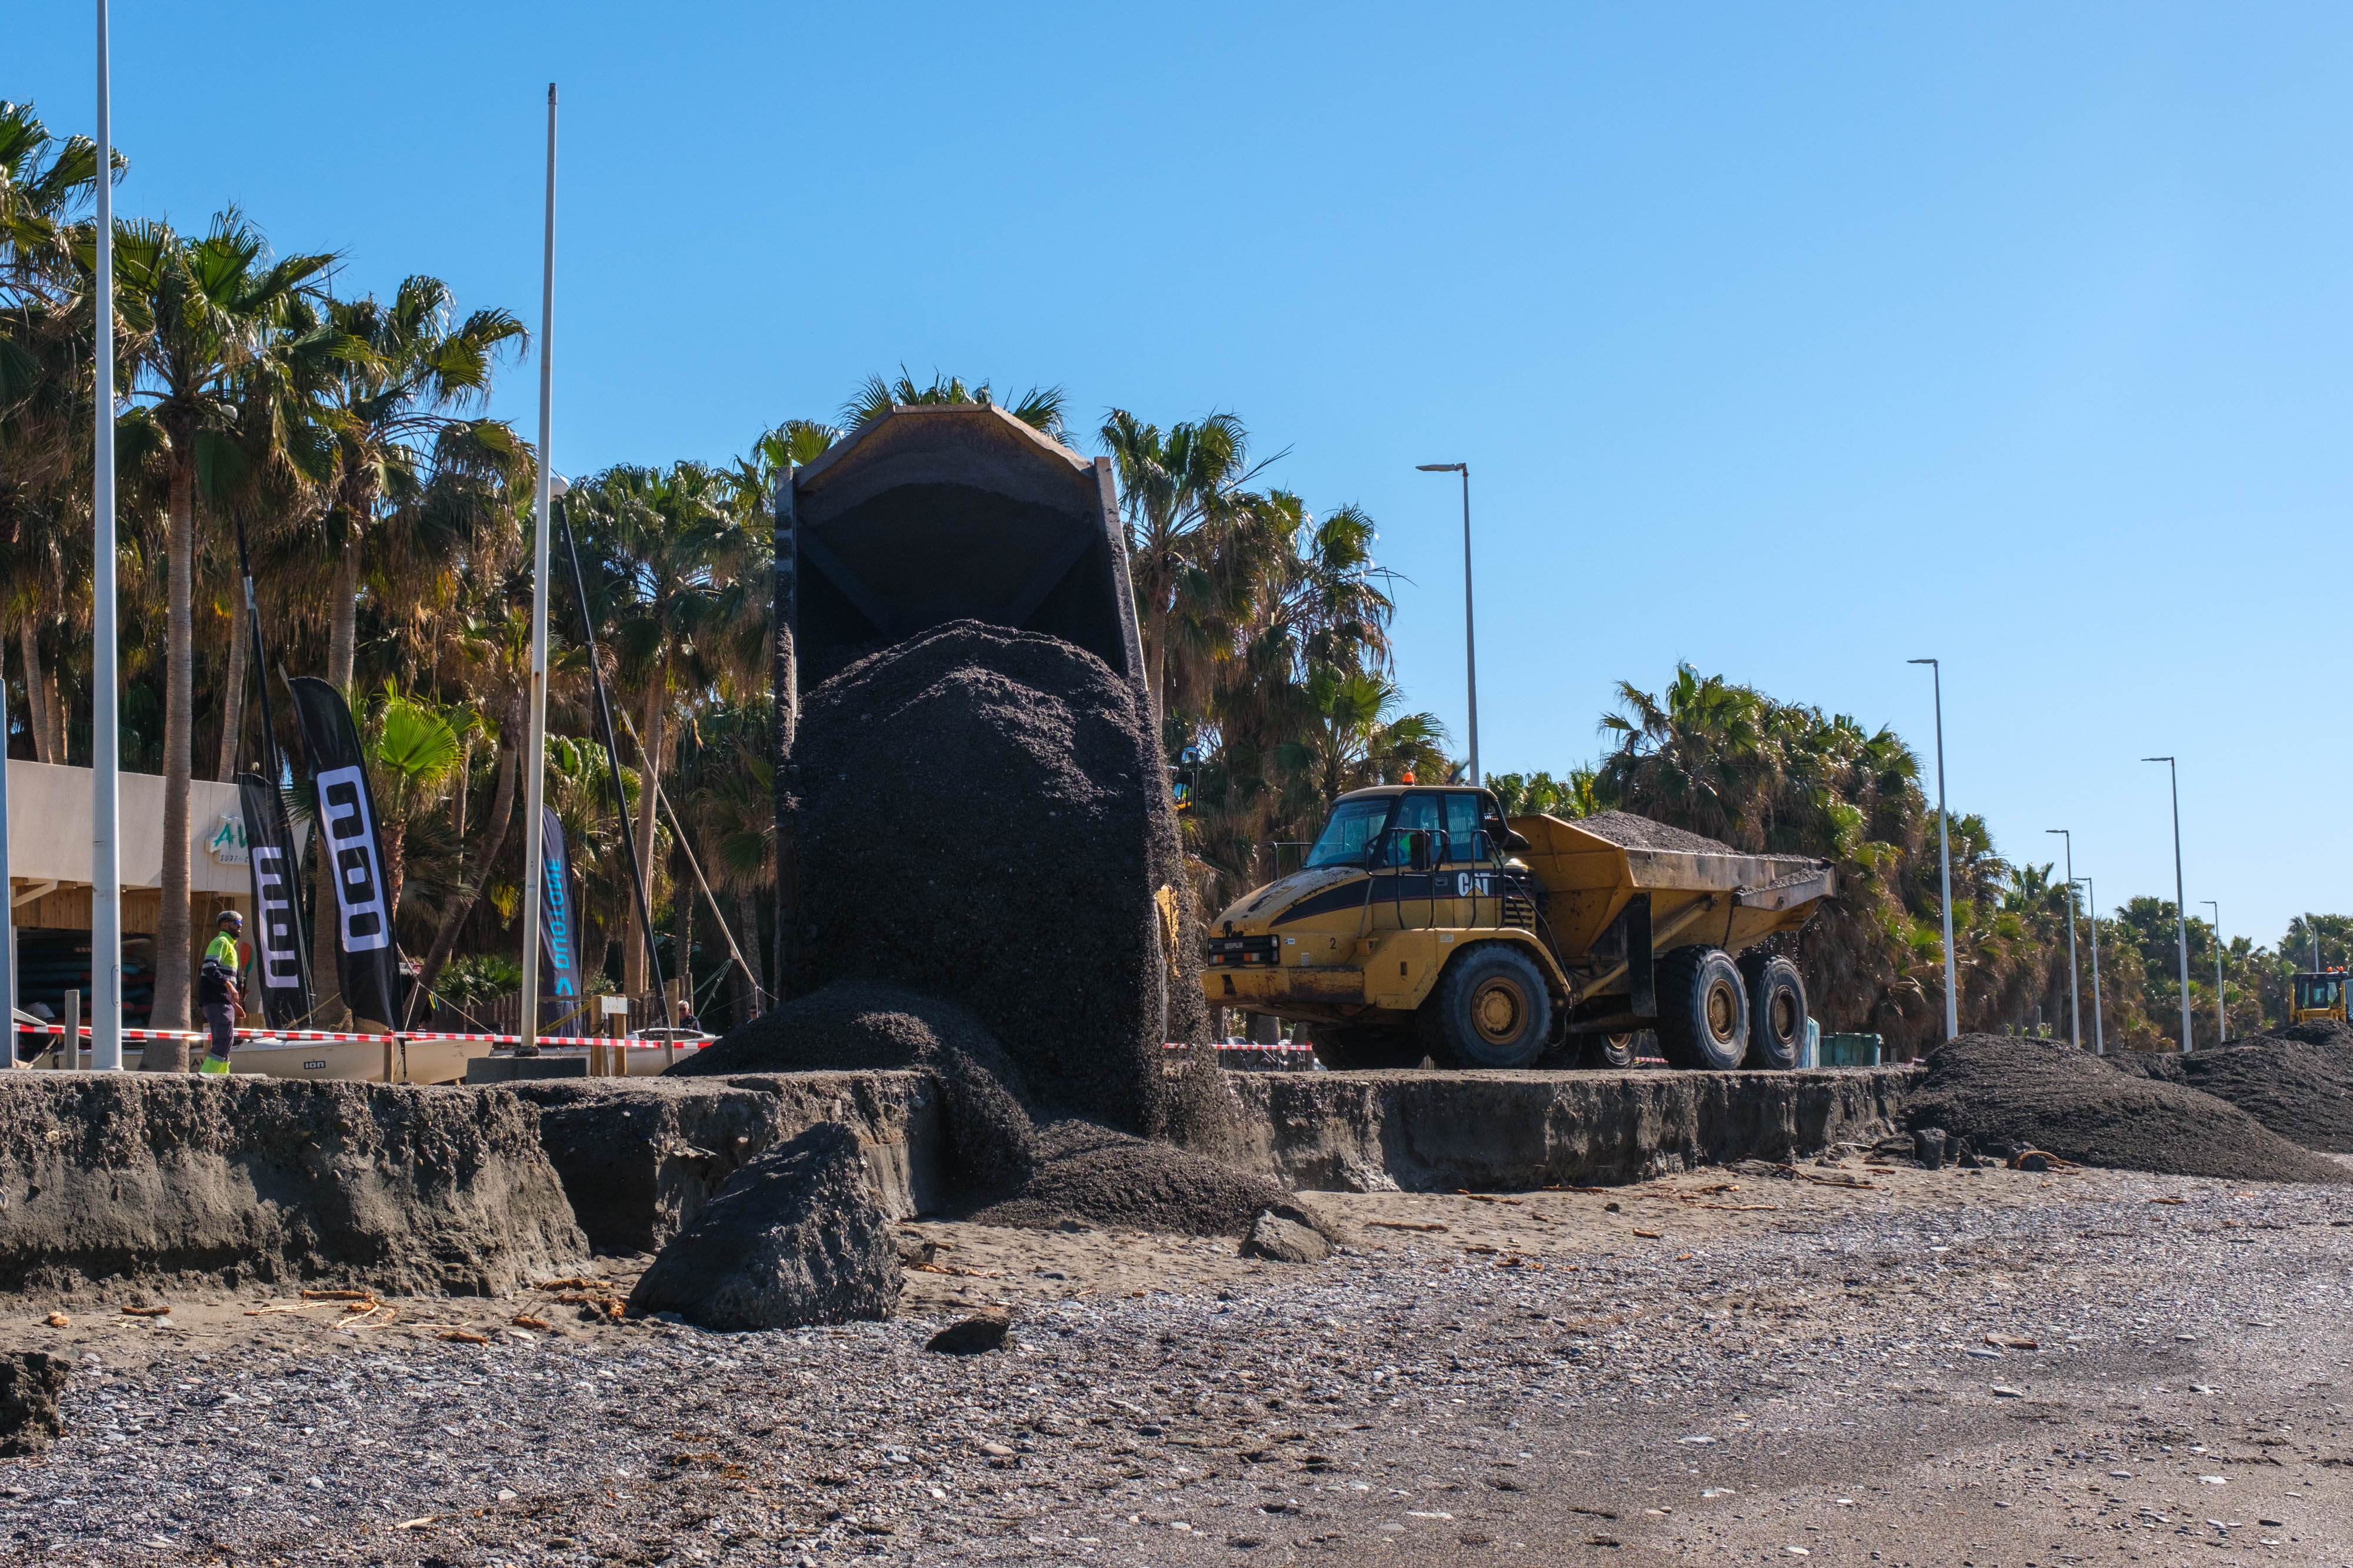
[[[1640,818],[1504,820],[1475,788],[1344,795],[1306,865],[1209,926],[1209,1006],[1311,1025],[1329,1067],[1793,1067],[1805,980],[1772,952],[1821,860],[1654,849]],[[1744,957],[1746,954],[1746,957]]]

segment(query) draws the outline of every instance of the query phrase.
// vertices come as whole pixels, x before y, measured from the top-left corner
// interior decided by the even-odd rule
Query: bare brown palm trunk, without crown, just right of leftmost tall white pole
[[[195,769],[195,451],[193,430],[172,433],[172,531],[167,548],[162,684],[162,914],[155,919],[155,1013],[151,1027],[188,1027],[188,780]],[[188,1041],[151,1039],[148,1072],[186,1072]]]

